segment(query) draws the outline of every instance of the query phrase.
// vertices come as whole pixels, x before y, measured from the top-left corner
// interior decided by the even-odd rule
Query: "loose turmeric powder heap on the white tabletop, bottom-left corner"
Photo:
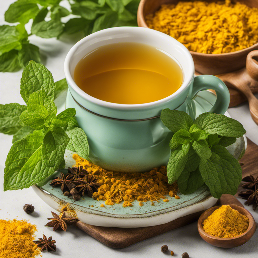
[[[0,257],[1,258],[34,258],[40,249],[35,240],[36,225],[26,220],[0,220]]]

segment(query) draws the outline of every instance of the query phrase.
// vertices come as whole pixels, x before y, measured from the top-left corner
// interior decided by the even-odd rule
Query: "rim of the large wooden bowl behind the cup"
[[[145,20],[145,17],[143,15],[143,7],[145,5],[145,3],[147,2],[148,0],[141,0],[140,3],[139,3],[139,7],[138,7],[138,11],[137,11],[137,18],[141,18],[141,20],[143,21],[144,23],[144,26],[139,26],[139,22],[138,22],[138,19],[137,19],[137,24],[139,27],[145,27],[145,28],[149,28],[147,23],[146,23],[146,20]],[[229,55],[233,55],[233,54],[238,54],[238,53],[242,53],[242,52],[251,52],[252,50],[254,50],[255,48],[258,48],[258,42],[255,43],[254,45],[252,46],[249,46],[245,49],[241,49],[241,50],[238,50],[238,51],[233,51],[233,52],[228,52],[228,53],[222,53],[222,54],[206,54],[206,53],[199,53],[199,52],[194,52],[194,51],[190,51],[189,52],[191,54],[194,54],[194,55],[197,55],[197,56],[203,56],[203,57],[210,57],[210,56],[214,56],[214,57],[227,57]]]

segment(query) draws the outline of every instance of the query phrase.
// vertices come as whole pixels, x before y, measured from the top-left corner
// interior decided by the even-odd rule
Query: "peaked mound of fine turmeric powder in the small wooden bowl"
[[[236,237],[244,233],[248,225],[248,217],[229,205],[222,205],[203,222],[203,230],[214,237]]]

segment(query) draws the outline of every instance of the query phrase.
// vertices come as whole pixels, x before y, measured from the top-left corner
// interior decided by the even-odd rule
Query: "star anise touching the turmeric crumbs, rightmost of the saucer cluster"
[[[84,196],[84,192],[88,193],[88,196],[92,197],[92,193],[98,191],[98,187],[100,186],[99,183],[96,183],[97,179],[91,176],[90,178],[88,175],[84,176],[82,179],[76,179],[78,185],[76,188],[79,188],[78,193]]]

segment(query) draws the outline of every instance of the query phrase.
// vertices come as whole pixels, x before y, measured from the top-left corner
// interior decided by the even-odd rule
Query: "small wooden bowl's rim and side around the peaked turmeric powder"
[[[247,211],[247,209],[245,209],[245,208],[243,208],[243,207],[241,207],[241,206],[238,206],[238,205],[236,205],[236,204],[227,204],[227,205],[229,205],[231,208],[233,208],[233,209],[236,209],[238,212],[240,212],[241,214],[243,214],[242,213],[242,211],[245,211],[245,213],[248,215],[245,215],[245,214],[243,214],[243,215],[245,215],[245,216],[247,216],[248,217],[248,219],[249,219],[249,225],[248,225],[248,228],[247,228],[247,230],[244,232],[244,233],[242,233],[241,235],[238,235],[238,236],[236,236],[236,237],[214,237],[214,236],[211,236],[211,235],[209,235],[209,234],[207,234],[204,230],[203,230],[203,227],[202,227],[202,225],[201,225],[201,223],[202,223],[202,221],[204,221],[205,219],[207,219],[207,217],[205,217],[204,215],[209,211],[209,210],[216,210],[216,209],[218,209],[218,208],[220,208],[222,205],[219,205],[219,206],[213,206],[213,207],[211,207],[211,208],[209,208],[209,209],[207,209],[203,214],[201,214],[201,216],[199,217],[199,219],[198,219],[198,222],[197,222],[197,225],[198,225],[198,231],[199,231],[199,233],[200,234],[203,234],[204,236],[206,236],[206,237],[208,237],[208,238],[210,238],[210,239],[214,239],[214,240],[224,240],[224,241],[228,241],[228,240],[232,240],[232,239],[238,239],[238,238],[241,238],[241,237],[243,237],[244,235],[246,235],[249,231],[251,231],[252,230],[252,228],[253,227],[255,227],[256,226],[256,223],[255,223],[255,220],[254,220],[254,217],[253,217],[253,215],[249,212],[249,211]],[[251,236],[252,237],[252,236]]]

